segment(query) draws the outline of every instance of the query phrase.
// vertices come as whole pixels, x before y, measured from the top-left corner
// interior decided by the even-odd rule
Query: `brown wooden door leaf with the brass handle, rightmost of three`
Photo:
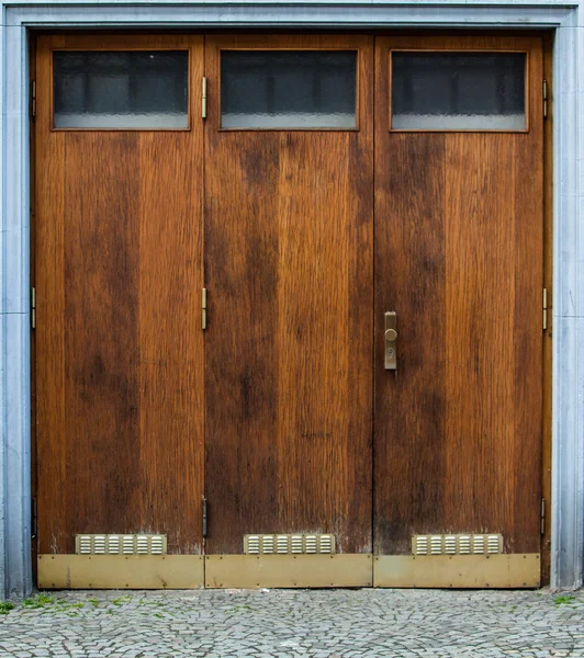
[[[525,125],[397,129],[392,97],[431,88],[392,81],[404,50],[524,54]],[[375,57],[375,552],[501,533],[506,553],[539,553],[541,42],[379,38]],[[385,311],[396,371],[384,370]]]

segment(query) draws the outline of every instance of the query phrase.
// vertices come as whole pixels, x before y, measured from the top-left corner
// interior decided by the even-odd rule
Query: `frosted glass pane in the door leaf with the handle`
[[[524,53],[392,53],[392,128],[524,131]]]

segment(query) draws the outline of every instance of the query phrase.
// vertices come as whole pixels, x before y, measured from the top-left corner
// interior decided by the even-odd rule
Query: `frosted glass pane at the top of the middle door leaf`
[[[355,128],[357,52],[224,50],[224,128]]]

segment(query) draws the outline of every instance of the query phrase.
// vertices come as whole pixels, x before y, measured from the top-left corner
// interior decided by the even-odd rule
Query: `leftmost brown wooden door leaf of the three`
[[[54,84],[57,53],[75,57]],[[127,53],[142,54],[130,83]],[[169,553],[202,551],[202,125],[189,82],[184,125],[158,125],[171,83],[147,61],[165,53],[199,90],[199,36],[38,38],[40,553],[75,553],[78,533],[142,532],[167,534]],[[104,111],[103,88],[134,99],[137,124]]]

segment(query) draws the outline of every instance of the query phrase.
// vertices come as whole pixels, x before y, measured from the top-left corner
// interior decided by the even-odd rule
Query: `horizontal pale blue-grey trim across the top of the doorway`
[[[544,3],[542,3],[544,4]],[[496,13],[496,18],[494,16]],[[496,10],[487,3],[464,7],[419,7],[415,3],[368,4],[356,2],[350,8],[342,3],[186,3],[168,2],[141,5],[124,2],[102,5],[35,3],[8,11],[8,26],[221,26],[221,27],[515,27],[538,29],[560,26],[571,10],[562,5],[525,8],[503,4]]]

